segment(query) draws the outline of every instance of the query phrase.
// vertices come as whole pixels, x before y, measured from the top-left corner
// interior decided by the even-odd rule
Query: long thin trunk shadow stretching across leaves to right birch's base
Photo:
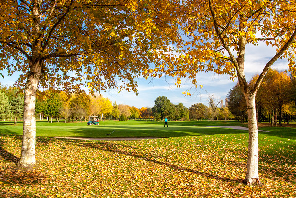
[[[243,180],[240,179],[231,179],[231,178],[226,178],[226,177],[220,177],[211,173],[203,173],[197,170],[193,170],[190,168],[184,168],[184,167],[179,167],[175,164],[172,163],[168,163],[168,162],[161,162],[158,161],[156,159],[153,158],[158,158],[158,156],[146,156],[146,155],[140,155],[136,152],[132,152],[132,151],[124,151],[121,150],[120,147],[124,146],[121,144],[115,144],[115,143],[109,143],[109,142],[99,142],[96,144],[90,144],[88,142],[79,142],[78,143],[80,146],[86,147],[86,148],[94,148],[94,149],[99,149],[102,151],[107,151],[107,152],[111,152],[111,153],[116,153],[116,154],[122,154],[122,155],[127,155],[127,156],[132,156],[135,158],[139,158],[142,160],[145,160],[147,162],[153,162],[159,165],[163,165],[163,166],[167,166],[170,168],[173,168],[175,170],[181,170],[181,171],[187,171],[187,172],[191,172],[197,175],[201,175],[210,179],[216,179],[216,180],[220,180],[220,181],[226,181],[226,182],[238,182],[238,183],[243,183]]]

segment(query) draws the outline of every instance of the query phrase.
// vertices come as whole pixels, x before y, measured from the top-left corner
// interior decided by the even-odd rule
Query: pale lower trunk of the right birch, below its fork
[[[255,95],[246,96],[249,127],[249,145],[247,157],[247,173],[244,183],[247,185],[261,185],[258,174],[258,126],[256,117]]]

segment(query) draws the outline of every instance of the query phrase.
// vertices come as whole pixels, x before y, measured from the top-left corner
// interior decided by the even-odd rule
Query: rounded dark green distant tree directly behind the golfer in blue
[[[164,117],[173,118],[175,116],[175,106],[165,96],[159,96],[154,101],[155,105],[152,107],[152,112],[155,118],[163,119]]]

